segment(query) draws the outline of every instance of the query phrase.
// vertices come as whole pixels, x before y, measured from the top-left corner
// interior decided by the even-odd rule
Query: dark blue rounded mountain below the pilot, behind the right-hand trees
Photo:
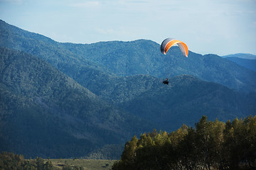
[[[193,126],[203,115],[222,121],[255,115],[255,103],[255,94],[242,95],[221,84],[180,75],[169,79],[169,86],[154,86],[120,107],[160,125],[161,130],[176,130],[183,124]]]

